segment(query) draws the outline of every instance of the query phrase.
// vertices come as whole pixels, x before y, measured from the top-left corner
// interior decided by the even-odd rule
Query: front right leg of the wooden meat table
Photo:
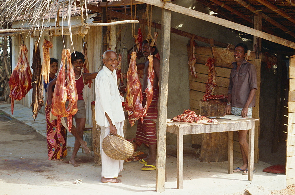
[[[254,133],[255,121],[252,121],[252,129],[249,130],[249,154],[248,154],[248,180],[253,179],[254,170]],[[250,166],[249,166],[250,165]]]

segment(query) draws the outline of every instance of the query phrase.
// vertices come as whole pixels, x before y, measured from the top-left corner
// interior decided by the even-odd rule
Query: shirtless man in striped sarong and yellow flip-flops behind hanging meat
[[[142,106],[144,107],[147,101],[147,97],[145,94],[145,89],[148,87],[148,66],[149,66],[149,55],[155,55],[158,53],[158,49],[153,46],[150,46],[151,40],[144,40],[142,43],[142,54],[145,57],[145,62],[141,64],[137,64],[137,69],[144,70],[143,76],[143,84],[142,84],[142,95],[143,101]],[[142,143],[145,143],[149,146],[149,153],[145,159],[141,159],[139,161],[140,164],[143,164],[141,170],[142,171],[150,171],[156,169],[156,160],[157,160],[157,129],[156,122],[152,121],[152,119],[158,118],[158,97],[159,97],[159,75],[160,75],[160,60],[153,57],[153,67],[154,67],[154,90],[153,90],[153,99],[150,104],[150,107],[147,111],[147,116],[143,117],[143,123],[138,120],[137,131],[136,131],[136,139]]]

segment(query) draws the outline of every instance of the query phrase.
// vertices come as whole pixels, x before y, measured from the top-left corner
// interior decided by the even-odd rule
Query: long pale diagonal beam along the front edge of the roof
[[[258,36],[258,37],[261,37],[261,38],[266,39],[268,41],[272,41],[274,43],[278,43],[278,44],[281,44],[281,45],[284,45],[284,46],[291,47],[291,48],[295,49],[295,43],[292,42],[292,41],[282,39],[280,37],[273,36],[271,34],[268,34],[268,33],[262,32],[262,31],[258,31],[258,30],[255,30],[253,28],[250,28],[248,26],[237,24],[237,23],[234,23],[234,22],[222,19],[222,18],[217,18],[215,16],[210,16],[209,14],[205,14],[205,13],[202,13],[200,11],[196,11],[196,10],[193,10],[193,9],[188,9],[186,7],[179,6],[179,5],[176,5],[176,4],[172,4],[172,3],[169,3],[169,2],[166,3],[166,2],[163,2],[161,0],[137,0],[137,1],[140,1],[140,2],[146,3],[146,4],[151,4],[151,5],[154,5],[154,6],[158,6],[158,7],[168,9],[168,10],[171,10],[171,11],[175,11],[177,13],[185,14],[185,15],[195,17],[195,18],[198,18],[198,19],[201,19],[201,20],[209,21],[209,22],[212,22],[214,24],[219,24],[219,25],[225,26],[227,28],[231,28],[231,29],[235,29],[237,31],[245,32],[245,33],[251,34],[253,36]]]

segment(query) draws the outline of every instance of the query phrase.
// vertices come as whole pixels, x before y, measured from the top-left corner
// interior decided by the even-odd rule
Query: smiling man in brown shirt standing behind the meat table
[[[247,62],[248,47],[239,43],[235,46],[234,66],[230,73],[230,84],[228,86],[228,98],[225,108],[226,114],[234,114],[243,118],[252,117],[252,107],[255,106],[255,92],[257,90],[256,68],[253,64]],[[237,131],[240,149],[242,152],[243,165],[237,167],[234,173],[243,172],[243,175],[248,175],[248,130]],[[257,170],[254,170],[256,172]]]

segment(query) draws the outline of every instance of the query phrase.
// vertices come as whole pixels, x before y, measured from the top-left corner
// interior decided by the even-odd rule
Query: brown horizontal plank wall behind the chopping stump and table
[[[188,55],[190,55],[190,48],[188,47]],[[233,52],[233,50],[232,50]],[[233,55],[233,54],[232,54]],[[190,68],[189,69],[189,102],[191,110],[195,111],[196,114],[200,113],[200,106],[199,100],[203,99],[205,90],[206,90],[206,82],[208,80],[208,66],[205,64],[207,63],[207,59],[209,57],[213,58],[213,53],[211,47],[202,47],[196,46],[195,47],[195,57],[196,57],[196,64],[195,69],[197,73],[197,78],[191,75]],[[255,52],[251,51],[249,62],[254,63]],[[232,61],[234,62],[234,58],[232,57]],[[224,94],[227,95],[228,92],[228,84],[230,82],[230,71],[232,69],[231,64],[225,63],[220,58],[215,58],[215,67],[216,67],[216,82],[217,86],[214,91],[214,94]],[[256,130],[255,130],[256,131]],[[248,135],[247,135],[248,139]],[[201,144],[202,141],[202,134],[194,134],[192,135],[192,144]],[[255,145],[255,150],[258,149],[258,139],[255,140],[257,144]],[[240,151],[240,145],[238,142],[237,134],[234,134],[234,155],[237,157],[242,157]],[[255,161],[257,161],[257,155],[255,156]]]

